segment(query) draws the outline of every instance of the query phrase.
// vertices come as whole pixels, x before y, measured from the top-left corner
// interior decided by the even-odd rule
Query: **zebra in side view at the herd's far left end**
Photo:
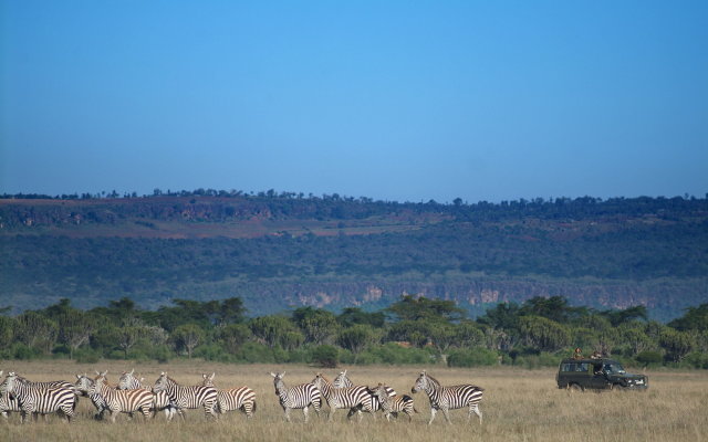
[[[0,383],[0,393],[12,396],[20,404],[22,423],[27,421],[28,413],[49,414],[62,412],[66,422],[71,422],[76,403],[75,389],[62,387],[38,387],[30,382],[21,381],[11,371]]]

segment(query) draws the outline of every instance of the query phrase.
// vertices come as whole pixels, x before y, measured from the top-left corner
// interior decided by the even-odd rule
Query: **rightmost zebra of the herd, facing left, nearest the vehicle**
[[[442,387],[440,382],[424,370],[410,389],[413,393],[418,391],[425,391],[430,399],[430,421],[428,425],[433,423],[438,410],[442,410],[445,419],[451,424],[452,422],[450,421],[448,410],[456,410],[464,407],[469,407],[467,420],[470,420],[472,413],[475,413],[479,417],[479,423],[482,423],[482,412],[479,410],[479,402],[482,400],[483,388],[468,383]]]

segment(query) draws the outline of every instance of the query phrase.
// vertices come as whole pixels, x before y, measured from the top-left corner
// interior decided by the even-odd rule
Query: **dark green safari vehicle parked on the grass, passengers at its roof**
[[[649,387],[646,376],[628,373],[622,364],[608,358],[563,359],[558,368],[555,380],[558,388],[575,391],[646,390]]]

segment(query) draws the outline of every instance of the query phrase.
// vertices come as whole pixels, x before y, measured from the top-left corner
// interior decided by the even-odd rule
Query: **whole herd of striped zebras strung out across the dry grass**
[[[0,377],[2,377],[0,371]],[[87,397],[96,409],[95,419],[104,419],[107,412],[111,421],[115,422],[118,413],[140,412],[145,418],[155,417],[164,411],[167,420],[175,414],[185,419],[185,409],[204,408],[207,417],[217,419],[227,411],[239,410],[250,419],[256,412],[256,392],[248,387],[220,390],[214,386],[215,373],[202,375],[202,382],[198,386],[180,386],[167,373],[162,372],[155,385],[144,385],[144,378],[135,376],[135,370],[124,371],[118,383],[112,386],[106,379],[106,371],[96,371],[95,377],[76,375],[74,383],[67,381],[32,382],[14,372],[6,376],[0,383],[0,414],[8,418],[9,412],[20,412],[21,421],[32,414],[46,417],[52,413],[63,414],[71,422],[79,397]],[[356,386],[341,371],[333,381],[322,373],[317,373],[311,382],[287,387],[283,381],[285,372],[270,373],[284,418],[290,422],[290,411],[301,409],[304,421],[312,408],[319,415],[322,402],[330,408],[327,420],[332,421],[337,409],[348,410],[347,419],[357,414],[362,420],[363,413],[368,412],[375,419],[375,412],[382,411],[386,420],[405,413],[408,421],[418,411],[414,407],[410,396],[398,396],[393,388],[378,383],[376,387]],[[451,423],[449,410],[468,408],[468,420],[472,413],[482,422],[479,402],[483,389],[472,385],[442,387],[439,381],[420,372],[416,379],[412,393],[425,391],[430,400],[430,420],[433,423],[438,410],[441,410],[447,422]]]

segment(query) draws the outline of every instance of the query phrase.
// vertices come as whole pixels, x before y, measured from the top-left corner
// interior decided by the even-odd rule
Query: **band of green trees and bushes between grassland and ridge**
[[[0,308],[0,359],[202,358],[225,362],[554,366],[576,347],[629,365],[708,369],[708,304],[662,324],[644,306],[596,311],[566,298],[503,303],[476,320],[455,302],[403,296],[375,312],[299,307],[248,317],[239,297],[174,299],[156,311],[127,297],[88,311],[62,298],[10,316]]]

